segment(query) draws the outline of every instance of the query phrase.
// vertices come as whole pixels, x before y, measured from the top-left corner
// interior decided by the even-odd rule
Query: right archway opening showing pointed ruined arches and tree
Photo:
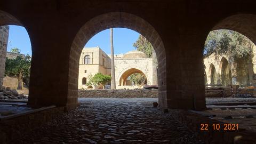
[[[214,115],[213,119],[225,123],[239,121],[249,115],[240,106],[256,101],[255,22],[253,14],[233,15],[217,23],[206,38],[203,63],[211,81],[207,79],[205,101],[207,109],[211,109],[207,115]],[[217,80],[214,83],[213,77]]]

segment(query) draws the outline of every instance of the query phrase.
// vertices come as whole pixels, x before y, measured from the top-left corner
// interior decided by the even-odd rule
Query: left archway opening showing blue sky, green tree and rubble
[[[9,13],[0,11],[0,99],[27,99],[31,67],[31,43],[28,32]],[[9,92],[10,91],[10,92]]]

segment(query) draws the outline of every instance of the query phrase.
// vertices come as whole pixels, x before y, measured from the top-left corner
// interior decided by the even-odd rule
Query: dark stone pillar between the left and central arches
[[[28,105],[72,109],[78,105],[78,68],[82,49],[70,52],[73,38],[63,37],[66,31],[59,25],[47,24],[30,30],[34,41]]]

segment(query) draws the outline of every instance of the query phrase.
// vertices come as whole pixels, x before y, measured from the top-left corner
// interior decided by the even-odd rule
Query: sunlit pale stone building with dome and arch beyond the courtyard
[[[138,88],[129,81],[129,76],[134,73],[144,74],[147,84],[153,85],[153,77],[157,77],[156,73],[153,74],[153,58],[147,58],[146,54],[140,51],[130,51],[125,54],[115,54],[114,59],[117,89]],[[79,60],[78,89],[87,89],[88,77],[96,73],[111,75],[110,55],[99,47],[86,47],[82,50]]]

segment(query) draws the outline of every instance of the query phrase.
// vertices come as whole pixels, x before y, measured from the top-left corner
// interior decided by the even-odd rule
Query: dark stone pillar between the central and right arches
[[[199,30],[180,30],[181,34],[173,33],[165,43],[169,49],[166,51],[167,108],[204,110],[203,47],[206,34]],[[172,41],[175,37],[179,38]]]

